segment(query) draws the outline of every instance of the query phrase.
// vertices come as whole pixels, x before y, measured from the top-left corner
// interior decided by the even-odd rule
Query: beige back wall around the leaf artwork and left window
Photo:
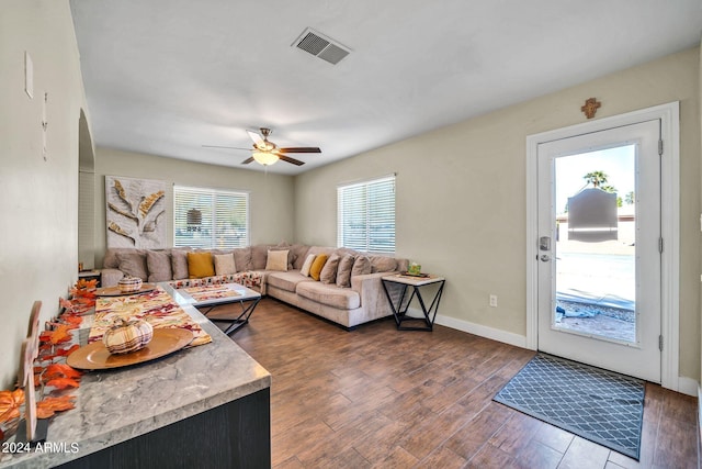
[[[173,185],[250,191],[251,244],[280,243],[281,241],[293,243],[294,241],[294,180],[291,176],[201,165],[181,159],[98,147],[95,156],[95,260],[98,266],[102,266],[106,247],[105,176],[163,180],[167,201],[173,200]],[[167,245],[172,246],[173,205],[171,202],[166,204],[166,217],[168,221]]]

